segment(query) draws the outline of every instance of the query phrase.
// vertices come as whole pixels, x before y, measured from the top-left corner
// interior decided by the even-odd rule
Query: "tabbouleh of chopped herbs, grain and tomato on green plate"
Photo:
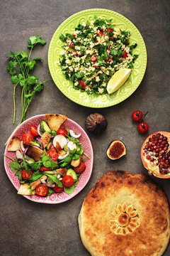
[[[88,94],[108,93],[106,85],[112,75],[122,68],[133,68],[138,55],[132,55],[130,32],[115,28],[112,20],[97,18],[82,23],[74,33],[60,35],[64,50],[59,65],[73,87]]]

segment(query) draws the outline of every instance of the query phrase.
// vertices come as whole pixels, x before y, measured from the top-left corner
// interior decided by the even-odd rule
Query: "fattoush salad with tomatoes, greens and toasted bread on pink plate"
[[[90,158],[79,142],[81,134],[62,125],[66,115],[45,116],[47,122],[42,120],[38,127],[32,125],[21,138],[14,136],[8,146],[8,151],[16,152],[9,167],[18,176],[21,195],[73,193],[86,169],[84,159]]]

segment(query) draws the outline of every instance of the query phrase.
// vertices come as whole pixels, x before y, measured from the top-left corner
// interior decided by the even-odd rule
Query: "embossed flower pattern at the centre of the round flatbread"
[[[132,233],[140,224],[140,218],[134,206],[118,203],[111,213],[111,230],[115,234],[126,235]]]

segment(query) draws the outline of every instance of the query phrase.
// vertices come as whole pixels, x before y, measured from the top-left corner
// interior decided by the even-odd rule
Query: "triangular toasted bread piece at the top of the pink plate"
[[[45,116],[47,117],[47,123],[50,129],[53,129],[56,132],[67,119],[67,115],[65,114],[45,114]]]

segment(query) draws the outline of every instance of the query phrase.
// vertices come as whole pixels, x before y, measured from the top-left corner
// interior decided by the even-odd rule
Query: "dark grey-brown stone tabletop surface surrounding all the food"
[[[79,237],[77,216],[86,193],[106,171],[125,170],[133,174],[147,171],[142,166],[140,147],[148,134],[137,132],[137,124],[131,120],[134,110],[149,110],[147,121],[149,134],[170,130],[169,122],[169,0],[8,0],[0,1],[1,16],[1,255],[64,255],[85,256]],[[77,11],[92,8],[111,9],[123,14],[137,26],[147,46],[148,63],[140,87],[119,105],[101,110],[79,106],[62,95],[54,82],[45,84],[45,90],[36,95],[28,109],[27,118],[35,114],[56,112],[84,127],[84,120],[94,111],[108,119],[106,132],[94,136],[89,134],[94,146],[94,169],[89,183],[72,200],[60,205],[33,203],[18,196],[4,169],[5,142],[14,129],[13,86],[6,71],[6,56],[9,50],[26,50],[28,38],[41,35],[47,44],[37,47],[35,55],[44,59],[35,73],[40,80],[50,78],[47,51],[53,33],[66,18]],[[21,116],[21,91],[16,92],[16,124]],[[127,156],[111,161],[106,156],[108,144],[113,139],[122,139],[128,149]],[[169,181],[153,178],[164,189],[170,199]],[[148,202],[149,203],[149,202]],[[170,255],[170,248],[164,256]],[[123,256],[123,255],[121,255]],[[140,252],[139,252],[140,256]]]

